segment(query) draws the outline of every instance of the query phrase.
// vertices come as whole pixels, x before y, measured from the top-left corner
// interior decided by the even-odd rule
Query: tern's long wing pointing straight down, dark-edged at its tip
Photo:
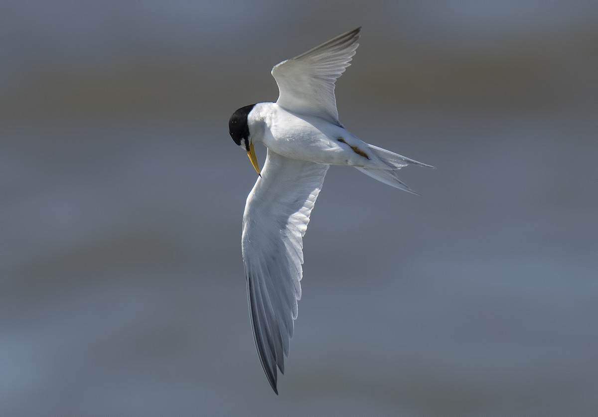
[[[328,165],[268,151],[243,214],[243,263],[255,346],[276,394],[301,298],[303,235]]]

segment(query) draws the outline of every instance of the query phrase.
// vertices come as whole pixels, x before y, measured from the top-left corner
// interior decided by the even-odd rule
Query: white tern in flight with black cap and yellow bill
[[[355,55],[361,27],[274,66],[279,97],[238,109],[234,143],[258,173],[243,213],[242,252],[255,346],[274,393],[285,372],[301,298],[303,235],[329,165],[349,165],[413,192],[396,171],[431,167],[362,142],[338,121],[334,83]],[[260,171],[254,144],[267,148]]]

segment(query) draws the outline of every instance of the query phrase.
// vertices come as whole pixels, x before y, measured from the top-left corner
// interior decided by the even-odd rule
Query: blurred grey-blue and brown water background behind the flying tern
[[[594,2],[2,2],[2,415],[590,415]],[[364,27],[274,395],[228,135],[276,63]],[[258,149],[263,160],[264,149]]]

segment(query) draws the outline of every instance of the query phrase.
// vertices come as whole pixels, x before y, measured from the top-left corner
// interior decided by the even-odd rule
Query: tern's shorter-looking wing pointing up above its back
[[[300,56],[274,66],[277,104],[298,114],[315,115],[340,125],[334,82],[344,72],[359,46],[361,27],[343,33]]]

